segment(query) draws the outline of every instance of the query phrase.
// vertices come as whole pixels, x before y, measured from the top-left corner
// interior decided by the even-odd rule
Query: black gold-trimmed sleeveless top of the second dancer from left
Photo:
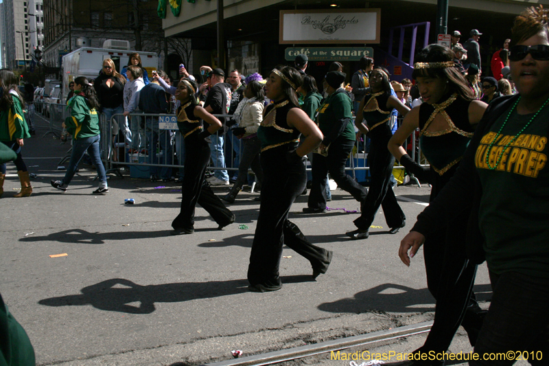
[[[265,117],[257,129],[257,137],[261,141],[261,152],[285,144],[299,142],[301,133],[296,128],[288,126],[288,112],[299,108],[290,102],[282,100],[267,106]]]

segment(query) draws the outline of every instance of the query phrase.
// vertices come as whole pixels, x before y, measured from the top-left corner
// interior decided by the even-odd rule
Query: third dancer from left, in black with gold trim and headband
[[[393,174],[395,157],[387,149],[387,143],[393,133],[391,113],[397,109],[401,115],[406,115],[410,108],[402,104],[397,97],[390,94],[389,76],[386,69],[375,67],[370,74],[371,93],[366,94],[356,115],[355,125],[359,130],[368,135],[371,140],[368,163],[372,181],[368,196],[362,202],[360,210],[362,214],[354,223],[357,230],[349,231],[347,236],[351,239],[366,239],[369,236],[369,228],[381,205],[389,233],[397,233],[406,225],[406,216],[400,208],[395,193],[390,187],[390,175]],[[365,119],[366,124],[362,123]]]

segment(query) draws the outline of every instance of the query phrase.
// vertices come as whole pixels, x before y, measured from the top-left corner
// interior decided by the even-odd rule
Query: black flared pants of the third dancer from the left
[[[383,214],[388,227],[401,227],[404,225],[404,220],[406,220],[395,193],[390,187],[390,176],[393,174],[395,157],[389,152],[387,144],[388,139],[386,138],[372,138],[371,140],[368,163],[372,180],[368,196],[362,203],[362,214],[354,220],[355,226],[360,230],[370,228],[379,206],[383,207]]]

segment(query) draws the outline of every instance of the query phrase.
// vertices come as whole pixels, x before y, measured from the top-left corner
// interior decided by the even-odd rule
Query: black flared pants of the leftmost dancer
[[[180,214],[172,222],[174,229],[193,229],[196,204],[202,206],[218,225],[226,226],[234,220],[233,213],[213,194],[205,180],[206,166],[210,161],[210,147],[206,141],[185,139],[185,176],[181,191]]]

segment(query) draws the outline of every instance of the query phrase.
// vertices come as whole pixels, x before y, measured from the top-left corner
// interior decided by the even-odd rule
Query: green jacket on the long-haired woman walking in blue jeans
[[[90,109],[88,100],[81,94],[75,95],[68,102],[71,107],[71,117],[65,119],[67,132],[75,140],[86,139],[100,134],[99,115],[95,108]]]

